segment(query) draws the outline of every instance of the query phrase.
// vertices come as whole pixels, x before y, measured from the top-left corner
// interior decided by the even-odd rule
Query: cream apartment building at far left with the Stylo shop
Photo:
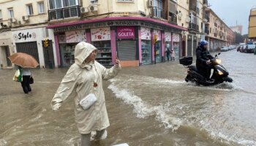
[[[7,56],[12,53],[33,55],[40,67],[55,64],[56,49],[48,26],[48,1],[0,0],[0,64],[13,66]],[[42,41],[49,40],[49,47]],[[57,64],[56,64],[57,66]]]

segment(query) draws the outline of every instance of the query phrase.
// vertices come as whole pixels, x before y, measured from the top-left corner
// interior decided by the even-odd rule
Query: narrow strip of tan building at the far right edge
[[[251,9],[249,15],[249,41],[256,42],[256,8]]]

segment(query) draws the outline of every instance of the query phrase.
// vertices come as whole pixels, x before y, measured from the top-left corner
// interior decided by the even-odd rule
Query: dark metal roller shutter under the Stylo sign
[[[39,55],[37,49],[37,42],[21,42],[16,43],[16,48],[18,53],[27,53],[32,55],[39,63]]]

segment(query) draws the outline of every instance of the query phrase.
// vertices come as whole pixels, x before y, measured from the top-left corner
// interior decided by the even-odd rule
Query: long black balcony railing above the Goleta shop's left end
[[[80,17],[80,6],[48,10],[49,20]]]

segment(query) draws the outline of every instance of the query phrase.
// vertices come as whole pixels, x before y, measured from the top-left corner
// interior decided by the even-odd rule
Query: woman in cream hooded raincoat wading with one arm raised
[[[51,106],[59,110],[63,101],[75,92],[75,122],[81,134],[81,144],[90,145],[91,131],[97,131],[95,139],[102,139],[105,129],[110,126],[108,113],[105,106],[105,95],[102,80],[115,77],[121,70],[120,61],[110,69],[95,61],[97,48],[93,45],[80,42],[75,47],[75,64],[70,66],[56,91]],[[83,110],[79,101],[90,93],[94,93],[97,101],[87,110]]]

